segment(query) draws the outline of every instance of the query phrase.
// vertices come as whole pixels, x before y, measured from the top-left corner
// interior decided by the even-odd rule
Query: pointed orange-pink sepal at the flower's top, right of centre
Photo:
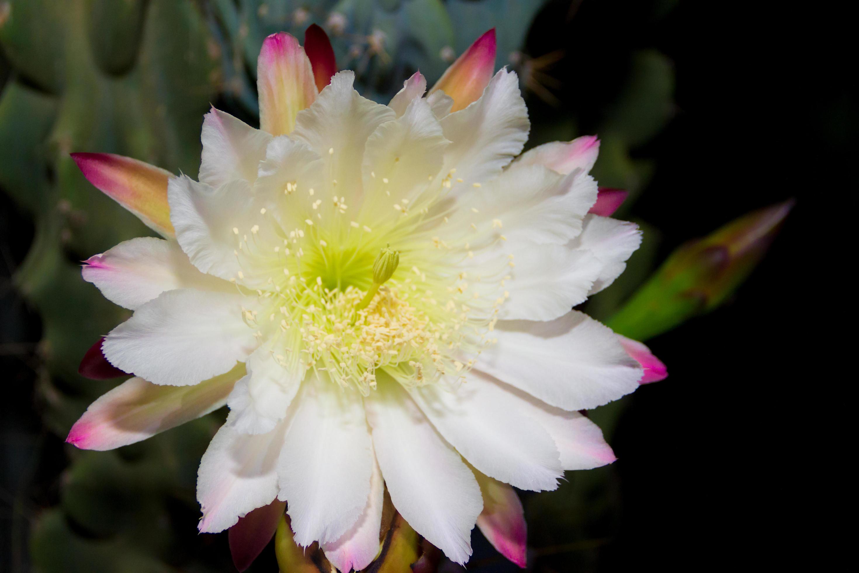
[[[454,100],[454,112],[477,101],[495,70],[495,28],[485,32],[445,70],[430,94],[443,90]]]

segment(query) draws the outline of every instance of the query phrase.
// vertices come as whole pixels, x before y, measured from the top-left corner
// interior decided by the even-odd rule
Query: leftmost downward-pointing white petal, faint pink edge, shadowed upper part
[[[201,533],[217,533],[233,527],[240,517],[271,503],[277,496],[277,460],[284,419],[267,434],[241,434],[222,425],[200,460],[197,500],[203,510]]]

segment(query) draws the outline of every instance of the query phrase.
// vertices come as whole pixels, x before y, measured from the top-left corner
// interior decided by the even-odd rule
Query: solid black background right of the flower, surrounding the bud
[[[641,150],[657,169],[634,205],[661,230],[658,259],[741,212],[797,203],[733,301],[649,341],[670,375],[618,425],[622,518],[599,570],[831,570],[844,423],[825,394],[855,379],[829,365],[855,340],[831,326],[856,318],[839,270],[859,183],[855,41],[827,3],[681,2],[656,25],[646,9],[586,0],[565,36],[591,55],[582,85],[612,81],[618,45],[673,60],[677,114]],[[584,25],[600,11],[611,31]],[[539,25],[535,44],[562,27],[547,13]]]

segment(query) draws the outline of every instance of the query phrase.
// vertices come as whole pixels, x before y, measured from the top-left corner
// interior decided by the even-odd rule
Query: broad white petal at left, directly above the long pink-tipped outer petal
[[[186,386],[223,374],[256,347],[241,295],[168,290],[107,335],[107,361],[155,384]]]

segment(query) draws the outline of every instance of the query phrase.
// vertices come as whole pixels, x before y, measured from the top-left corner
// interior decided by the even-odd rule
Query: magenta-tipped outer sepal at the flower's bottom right
[[[484,510],[478,527],[504,557],[524,568],[527,564],[527,524],[525,511],[516,492],[507,484],[475,472]]]

